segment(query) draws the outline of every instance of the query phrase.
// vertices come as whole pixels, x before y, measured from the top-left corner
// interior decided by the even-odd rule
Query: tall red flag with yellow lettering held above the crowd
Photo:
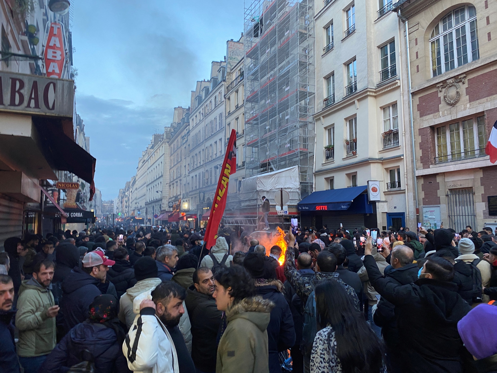
[[[237,172],[237,131],[231,130],[230,141],[226,148],[224,155],[223,167],[221,167],[221,174],[219,175],[218,186],[212,201],[212,207],[209,213],[209,221],[207,222],[207,229],[205,230],[205,248],[209,250],[216,244],[216,236],[221,218],[223,217],[224,209],[226,207],[226,196],[228,194],[228,182],[230,175]]]

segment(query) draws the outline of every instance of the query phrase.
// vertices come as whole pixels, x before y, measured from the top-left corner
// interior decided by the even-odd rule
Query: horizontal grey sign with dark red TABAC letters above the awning
[[[0,72],[0,111],[72,118],[74,81]]]

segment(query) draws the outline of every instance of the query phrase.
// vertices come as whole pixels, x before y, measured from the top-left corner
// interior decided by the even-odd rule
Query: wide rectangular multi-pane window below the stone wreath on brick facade
[[[435,128],[435,163],[484,157],[485,117],[469,118]]]

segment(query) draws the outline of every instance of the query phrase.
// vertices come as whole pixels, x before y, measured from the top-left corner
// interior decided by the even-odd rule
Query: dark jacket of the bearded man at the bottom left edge
[[[15,352],[14,325],[15,310],[0,311],[0,372],[19,373],[19,360]]]

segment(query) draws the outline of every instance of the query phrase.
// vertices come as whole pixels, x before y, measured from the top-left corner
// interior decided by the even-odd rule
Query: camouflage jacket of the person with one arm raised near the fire
[[[345,282],[340,280],[337,272],[318,272],[314,277],[304,277],[302,276],[297,269],[295,268],[295,253],[293,248],[290,248],[286,251],[285,258],[285,276],[287,280],[292,284],[293,288],[297,295],[302,299],[302,304],[305,305],[307,302],[307,298],[314,291],[314,287],[321,281],[327,279],[334,279],[338,281],[340,285],[343,286],[348,295],[350,295],[351,300],[355,306],[357,311],[360,311],[359,307],[359,298],[355,293],[354,289],[347,285]],[[311,284],[312,282],[312,284]]]

